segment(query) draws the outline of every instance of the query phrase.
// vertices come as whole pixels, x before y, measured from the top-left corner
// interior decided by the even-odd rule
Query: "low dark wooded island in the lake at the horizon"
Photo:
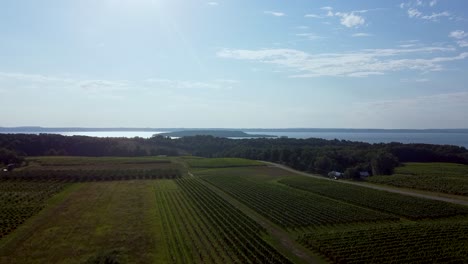
[[[247,134],[239,130],[182,130],[157,134],[165,137],[213,136],[223,138],[275,138],[274,135]]]

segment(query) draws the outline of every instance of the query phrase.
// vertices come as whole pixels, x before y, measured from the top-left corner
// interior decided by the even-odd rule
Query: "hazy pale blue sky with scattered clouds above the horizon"
[[[0,126],[468,128],[466,0],[2,0]]]

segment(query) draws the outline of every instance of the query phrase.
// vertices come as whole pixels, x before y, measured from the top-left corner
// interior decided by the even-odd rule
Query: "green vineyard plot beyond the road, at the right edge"
[[[369,182],[468,196],[468,165],[405,163],[394,175],[372,176]]]

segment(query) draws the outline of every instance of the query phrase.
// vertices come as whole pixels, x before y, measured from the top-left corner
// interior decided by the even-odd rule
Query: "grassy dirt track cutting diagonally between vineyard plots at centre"
[[[259,223],[261,226],[263,226],[273,238],[273,243],[278,244],[277,249],[280,252],[282,252],[286,256],[288,255],[288,253],[289,255],[294,255],[296,260],[294,261],[295,263],[325,263],[324,260],[317,256],[313,256],[308,249],[298,244],[291,236],[291,234],[276,226],[275,224],[271,223],[262,215],[250,209],[248,206],[239,202],[238,200],[228,195],[221,189],[218,189],[216,186],[213,186],[205,181],[202,181],[202,183],[208,188],[210,188],[212,191],[214,191],[216,194],[221,196],[223,199],[225,199],[227,202],[229,202],[231,205],[238,208],[239,210],[247,214],[249,217],[251,217],[253,220],[255,220],[257,223]]]

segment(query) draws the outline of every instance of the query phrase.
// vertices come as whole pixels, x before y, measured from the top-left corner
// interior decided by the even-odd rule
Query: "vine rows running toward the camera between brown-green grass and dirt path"
[[[260,225],[199,179],[155,184],[169,262],[291,263],[261,238]]]

